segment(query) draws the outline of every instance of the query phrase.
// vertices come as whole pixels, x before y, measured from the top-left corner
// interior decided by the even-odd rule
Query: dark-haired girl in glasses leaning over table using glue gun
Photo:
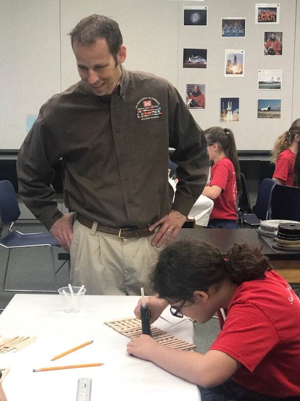
[[[300,399],[300,301],[258,248],[234,244],[224,258],[211,244],[177,241],[161,252],[152,280],[151,323],[168,305],[199,323],[221,308],[227,317],[205,354],[148,335],[133,338],[129,354],[198,385],[202,401]]]

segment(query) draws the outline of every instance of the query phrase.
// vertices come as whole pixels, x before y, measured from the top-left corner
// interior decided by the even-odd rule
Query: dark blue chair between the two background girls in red
[[[256,204],[253,206],[254,213],[243,213],[241,215],[241,227],[245,223],[250,225],[251,228],[256,228],[259,227],[262,220],[270,219],[271,197],[275,185],[275,181],[271,178],[262,180],[258,187]]]

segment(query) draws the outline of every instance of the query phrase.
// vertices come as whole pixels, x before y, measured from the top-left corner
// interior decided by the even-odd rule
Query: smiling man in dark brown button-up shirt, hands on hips
[[[76,264],[83,262],[78,254],[88,247],[86,240],[73,240],[72,214],[63,215],[57,208],[50,184],[53,163],[62,158],[65,204],[78,213],[77,226],[93,226],[92,235],[101,232],[106,239],[115,236],[107,232],[117,233],[123,227],[144,235],[145,230],[139,230],[159,226],[148,238],[151,245],[146,253],[149,249],[151,253],[175,238],[186,221],[205,186],[208,158],[203,131],[175,87],[165,79],[121,67],[126,47],[115,21],[91,15],[70,35],[82,80],[41,107],[19,151],[17,172],[24,203],[66,250],[72,244],[73,283],[86,284],[92,277],[87,266],[94,263],[94,256],[85,257],[86,275],[80,276]],[[178,164],[173,204],[167,174],[169,147],[175,148],[171,160]],[[122,239],[118,241],[122,244]],[[136,246],[144,252],[141,244]],[[97,247],[99,253],[101,245]],[[119,268],[125,259],[122,254],[120,258],[105,263]],[[148,259],[151,264],[155,258],[148,254]],[[106,274],[113,275],[112,270]],[[131,280],[132,271],[123,270],[125,293],[132,293],[127,280],[143,285],[145,277],[141,281],[137,272]],[[103,271],[97,275],[103,280]],[[114,292],[105,286],[101,293],[109,291]]]

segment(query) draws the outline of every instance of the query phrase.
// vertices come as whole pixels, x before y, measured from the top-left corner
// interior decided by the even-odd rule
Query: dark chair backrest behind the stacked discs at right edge
[[[271,216],[275,220],[300,222],[300,188],[276,185],[271,199]]]

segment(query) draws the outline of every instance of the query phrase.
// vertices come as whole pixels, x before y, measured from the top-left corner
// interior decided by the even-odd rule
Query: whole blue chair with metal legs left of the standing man
[[[32,234],[23,234],[22,232],[14,230],[13,224],[18,219],[20,214],[21,212],[18,206],[17,197],[13,185],[10,181],[7,180],[0,181],[0,245],[8,249],[3,289],[4,291],[18,291],[22,293],[57,293],[58,286],[52,247],[60,247],[60,245],[50,233],[37,232]],[[5,225],[9,225],[8,233],[6,236],[4,236],[4,238],[2,238],[2,231]],[[50,258],[53,267],[55,290],[26,290],[6,288],[7,271],[11,250],[16,248],[30,248],[36,246],[47,246],[50,249]]]

